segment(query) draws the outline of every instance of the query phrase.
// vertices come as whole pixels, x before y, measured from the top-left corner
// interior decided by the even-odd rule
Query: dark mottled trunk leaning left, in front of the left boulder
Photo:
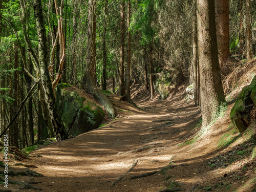
[[[38,34],[38,57],[39,72],[41,77],[41,85],[44,90],[45,100],[51,124],[57,141],[67,139],[68,134],[57,112],[56,102],[53,94],[52,82],[48,71],[47,64],[47,46],[46,46],[46,30],[44,25],[44,17],[42,14],[42,6],[40,0],[34,0],[34,16],[36,20],[36,28]]]

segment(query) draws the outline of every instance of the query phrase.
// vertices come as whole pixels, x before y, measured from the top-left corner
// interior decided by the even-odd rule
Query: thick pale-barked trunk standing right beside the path
[[[226,101],[218,59],[214,1],[197,0],[197,6],[202,126],[206,127],[219,116]]]

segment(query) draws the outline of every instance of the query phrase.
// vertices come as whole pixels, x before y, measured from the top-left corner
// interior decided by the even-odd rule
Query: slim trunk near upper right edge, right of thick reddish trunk
[[[246,47],[246,59],[251,59],[252,50],[251,50],[251,0],[245,0],[245,47]]]

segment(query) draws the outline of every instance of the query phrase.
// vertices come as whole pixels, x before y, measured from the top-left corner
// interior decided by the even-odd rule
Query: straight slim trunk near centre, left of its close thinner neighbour
[[[125,4],[124,0],[120,3],[120,63],[119,63],[119,89],[120,96],[125,94],[124,87],[124,35],[125,35]]]

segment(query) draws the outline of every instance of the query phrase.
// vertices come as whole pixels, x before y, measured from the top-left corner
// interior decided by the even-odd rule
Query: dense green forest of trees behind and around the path
[[[68,138],[56,110],[59,82],[94,94],[114,118],[99,89],[133,103],[134,82],[165,99],[167,86],[189,78],[206,126],[235,86],[223,90],[221,79],[256,51],[250,0],[0,0],[0,11],[0,133],[9,129],[18,148],[45,139],[44,131]]]

